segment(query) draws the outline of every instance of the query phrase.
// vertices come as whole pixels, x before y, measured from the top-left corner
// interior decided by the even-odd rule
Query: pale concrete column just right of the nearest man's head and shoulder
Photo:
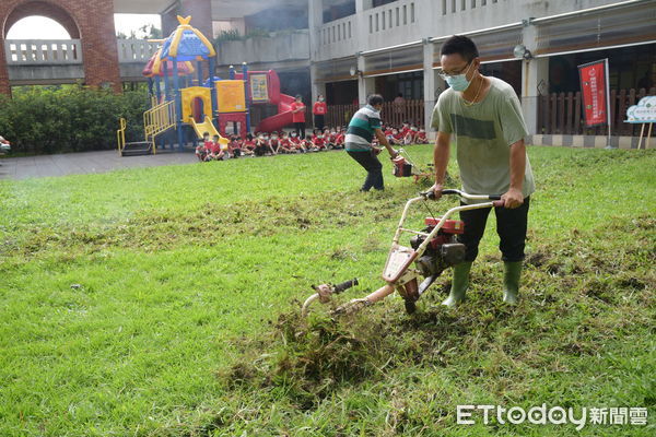
[[[537,28],[535,25],[527,25],[522,33],[523,44],[526,48],[535,52],[537,49]],[[539,86],[548,90],[549,82],[549,58],[527,59],[522,62],[522,110],[526,128],[530,134],[536,134],[538,129],[538,97],[540,96]]]

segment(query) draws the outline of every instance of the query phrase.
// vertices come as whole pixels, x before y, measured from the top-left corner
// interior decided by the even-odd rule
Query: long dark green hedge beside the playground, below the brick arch
[[[25,154],[114,149],[120,117],[128,120],[128,141],[143,139],[149,102],[145,90],[16,88],[11,99],[0,96],[0,134],[12,152]]]

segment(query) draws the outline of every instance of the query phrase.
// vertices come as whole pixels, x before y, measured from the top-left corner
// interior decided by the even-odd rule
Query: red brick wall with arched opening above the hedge
[[[105,83],[121,91],[118,50],[114,29],[114,3],[107,0],[2,0],[0,2],[0,93],[10,94],[4,58],[4,36],[11,24],[30,15],[57,20],[74,38],[82,39],[85,83]],[[72,26],[75,27],[72,27]],[[73,32],[72,32],[73,31]]]

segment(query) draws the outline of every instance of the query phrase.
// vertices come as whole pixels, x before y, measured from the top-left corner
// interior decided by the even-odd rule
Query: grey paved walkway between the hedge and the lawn
[[[67,153],[0,160],[0,179],[83,175],[118,168],[153,167],[198,162],[194,153],[157,152],[156,155],[125,156],[116,151]]]

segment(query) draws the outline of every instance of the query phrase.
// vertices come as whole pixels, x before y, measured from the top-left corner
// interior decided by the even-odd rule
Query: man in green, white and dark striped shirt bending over
[[[347,130],[345,149],[349,156],[366,170],[366,179],[360,191],[368,191],[372,187],[376,190],[385,189],[383,182],[383,164],[378,161],[382,149],[374,147],[374,137],[387,149],[389,156],[397,156],[397,152],[389,145],[387,138],[380,130],[380,109],[383,96],[373,94],[367,99],[368,104],[362,107],[351,118]]]

